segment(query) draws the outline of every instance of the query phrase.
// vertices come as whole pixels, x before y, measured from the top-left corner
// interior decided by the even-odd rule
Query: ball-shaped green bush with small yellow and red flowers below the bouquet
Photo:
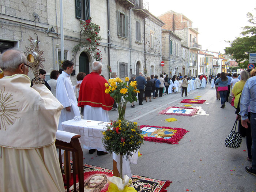
[[[143,143],[142,130],[136,122],[127,120],[114,121],[102,132],[102,142],[106,151],[117,155],[131,156]]]

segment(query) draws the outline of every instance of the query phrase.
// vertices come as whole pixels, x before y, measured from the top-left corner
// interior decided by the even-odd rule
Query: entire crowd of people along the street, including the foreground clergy
[[[52,71],[47,82],[46,71],[40,69],[38,77],[44,84],[35,83],[37,78],[30,81],[27,75],[31,67],[25,54],[18,49],[0,55],[3,70],[0,76],[0,185],[3,191],[16,191],[21,187],[21,191],[64,191],[54,144],[57,129],[62,129],[63,121],[81,113],[86,120],[109,121],[108,111],[113,108],[114,99],[105,93],[108,81],[101,75],[102,64],[98,61],[92,63],[90,74],[77,75],[75,86],[70,79],[74,69],[72,61],[65,60],[63,70]],[[215,86],[216,99],[221,100],[222,109],[231,90],[240,130],[246,136],[247,159],[252,161],[252,167],[245,169],[256,176],[255,75],[256,69],[233,75],[222,72],[209,76],[208,83],[212,88]],[[116,77],[113,73],[112,78]],[[158,78],[158,75],[146,77],[140,72],[137,77],[131,75],[130,83],[132,81],[137,82],[139,105],[143,105],[143,101],[151,102],[151,98],[157,99],[158,95],[181,93],[183,97],[189,91],[204,89],[207,76],[194,78],[163,73]],[[131,107],[135,107],[134,103]],[[103,149],[89,148],[90,154],[96,151],[98,155],[107,154]],[[26,167],[26,172],[20,171],[20,167]]]

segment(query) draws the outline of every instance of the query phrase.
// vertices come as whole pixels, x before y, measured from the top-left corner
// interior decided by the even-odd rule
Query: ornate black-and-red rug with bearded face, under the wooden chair
[[[64,163],[63,163],[64,170]],[[113,171],[98,166],[88,165],[84,163],[84,192],[106,192],[108,191],[108,177],[113,176]],[[64,176],[63,176],[64,178]],[[71,161],[71,178],[73,178],[73,166]],[[93,181],[95,180],[95,181]],[[162,181],[148,177],[142,177],[138,175],[132,175],[130,187],[134,187],[138,192],[167,192],[166,188],[169,187],[172,181]],[[69,183],[70,191],[74,191],[73,179]],[[64,180],[64,185],[67,186],[67,182]],[[76,176],[76,188],[78,187],[78,176]],[[66,188],[66,187],[65,187]],[[66,189],[67,191],[67,189]]]

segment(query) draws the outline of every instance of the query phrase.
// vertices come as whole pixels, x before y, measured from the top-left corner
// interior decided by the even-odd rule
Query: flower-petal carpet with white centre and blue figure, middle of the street
[[[183,116],[193,116],[197,113],[198,109],[188,108],[188,107],[168,107],[165,110],[159,112],[162,115],[183,115]]]

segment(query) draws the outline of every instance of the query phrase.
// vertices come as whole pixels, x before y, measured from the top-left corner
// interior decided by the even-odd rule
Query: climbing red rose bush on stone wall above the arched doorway
[[[74,46],[73,52],[77,53],[81,48],[85,48],[89,53],[93,54],[93,58],[96,61],[102,60],[101,51],[99,51],[99,41],[101,41],[101,36],[99,35],[100,26],[91,22],[91,18],[83,21],[80,20],[81,31],[80,31],[80,38],[82,39],[79,41],[77,45]]]

